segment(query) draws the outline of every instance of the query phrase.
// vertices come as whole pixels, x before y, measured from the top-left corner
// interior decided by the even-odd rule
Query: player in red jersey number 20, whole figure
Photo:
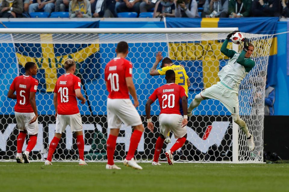
[[[176,74],[173,70],[166,71],[166,85],[157,88],[154,93],[148,98],[145,104],[145,113],[147,115],[148,129],[153,133],[154,124],[151,121],[151,104],[155,100],[160,103],[160,136],[157,138],[156,148],[154,151],[154,161],[152,165],[160,165],[158,162],[160,152],[163,147],[165,136],[169,131],[172,131],[175,138],[178,139],[172,148],[165,153],[169,165],[173,165],[173,153],[181,148],[187,138],[187,128],[185,125],[188,123],[187,116],[187,95],[185,89],[175,84]],[[184,117],[180,113],[179,100],[182,99],[182,107]]]

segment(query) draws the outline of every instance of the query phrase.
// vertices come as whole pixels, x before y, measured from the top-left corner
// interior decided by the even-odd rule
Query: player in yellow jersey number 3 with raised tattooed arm
[[[159,62],[162,61],[161,68],[157,70],[157,65]],[[181,85],[183,88],[185,88],[186,94],[188,96],[188,87],[191,85],[191,82],[189,80],[189,77],[185,71],[185,68],[183,65],[176,65],[172,62],[172,60],[168,57],[163,58],[162,52],[159,51],[156,53],[156,62],[154,62],[153,67],[151,67],[150,75],[165,75],[167,70],[173,70],[176,74],[176,81],[175,83],[178,85]],[[180,101],[180,112],[183,115],[183,109],[182,109],[182,101]],[[169,133],[166,136],[166,143],[170,143]]]

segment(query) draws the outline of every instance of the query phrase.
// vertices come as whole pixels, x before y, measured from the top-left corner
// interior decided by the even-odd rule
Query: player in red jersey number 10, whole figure
[[[131,125],[134,129],[130,138],[129,151],[123,164],[135,169],[142,169],[135,160],[134,154],[144,132],[141,117],[137,110],[138,97],[135,91],[135,85],[132,81],[132,63],[126,60],[129,45],[121,41],[117,44],[117,57],[113,58],[105,66],[104,76],[107,91],[107,124],[110,129],[110,135],[107,140],[107,165],[106,169],[120,169],[113,163],[113,154],[116,146],[117,136],[120,132],[121,122]],[[132,95],[134,104],[129,99],[129,93]]]

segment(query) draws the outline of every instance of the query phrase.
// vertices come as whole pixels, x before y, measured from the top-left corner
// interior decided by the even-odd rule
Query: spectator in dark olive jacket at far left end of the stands
[[[4,0],[0,6],[0,11],[2,18],[22,17],[23,0]]]

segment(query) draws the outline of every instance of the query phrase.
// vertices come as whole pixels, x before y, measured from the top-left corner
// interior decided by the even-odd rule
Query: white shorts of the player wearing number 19
[[[64,133],[67,125],[70,126],[72,132],[82,131],[80,113],[73,115],[57,115],[55,133]]]

